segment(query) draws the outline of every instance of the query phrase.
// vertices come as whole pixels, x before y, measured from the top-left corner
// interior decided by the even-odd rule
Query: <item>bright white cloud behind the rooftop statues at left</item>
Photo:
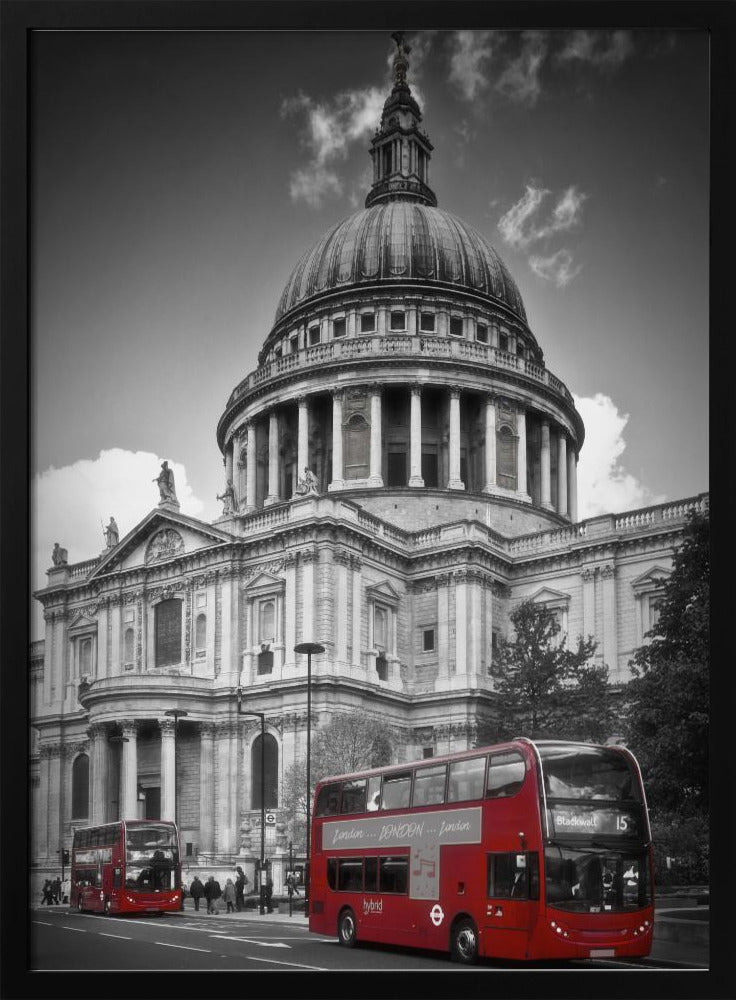
[[[111,516],[122,540],[158,506],[158,486],[153,480],[161,462],[151,452],[110,448],[95,459],[80,459],[60,469],[52,466],[37,475],[31,484],[32,589],[46,586],[54,542],[68,550],[70,563],[93,559],[105,547],[102,528]],[[180,462],[168,462],[182,513],[201,516],[204,504],[192,493],[186,468]],[[40,604],[35,600],[32,604],[32,634],[41,637]]]

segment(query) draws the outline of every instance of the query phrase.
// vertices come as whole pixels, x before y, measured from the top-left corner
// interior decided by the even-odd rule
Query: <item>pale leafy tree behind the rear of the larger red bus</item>
[[[331,774],[347,774],[391,761],[393,737],[383,722],[361,712],[336,715],[312,740],[310,802],[318,781]],[[307,762],[301,760],[286,772],[282,801],[290,815],[289,833],[295,844],[306,846]]]

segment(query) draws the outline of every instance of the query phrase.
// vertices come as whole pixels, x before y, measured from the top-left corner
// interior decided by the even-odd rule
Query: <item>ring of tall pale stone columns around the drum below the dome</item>
[[[422,386],[412,384],[407,387],[410,392],[410,418],[409,418],[409,470],[407,485],[412,488],[420,488],[425,485],[422,478],[422,390],[423,388],[435,388],[435,386]],[[462,391],[456,388],[447,388],[449,397],[448,406],[448,468],[449,476],[444,488],[449,490],[465,490],[466,484],[461,478],[461,396]],[[382,475],[383,449],[384,449],[384,428],[382,416],[383,387],[371,385],[366,387],[366,394],[369,397],[370,413],[370,444],[368,454],[368,477],[362,480],[351,480],[346,478],[346,469],[343,461],[343,430],[345,427],[345,395],[344,390],[333,390],[332,398],[332,468],[331,479],[328,483],[328,490],[342,490],[351,486],[382,487],[384,485]],[[297,476],[294,477],[294,489],[296,489],[297,479],[305,467],[309,466],[309,428],[310,428],[310,396],[301,396],[296,400],[297,406]],[[527,410],[520,404],[514,404],[513,410],[499,416],[497,406],[498,400],[492,394],[484,397],[485,410],[485,483],[483,490],[489,494],[508,495],[509,492],[516,495],[520,500],[530,502],[531,497],[528,492],[527,483]],[[290,499],[283,497],[279,492],[280,483],[280,413],[281,407],[274,407],[251,417],[241,425],[236,434],[231,438],[225,452],[225,476],[226,480],[234,483],[233,478],[233,454],[241,453],[245,450],[245,488],[242,495],[237,495],[236,502],[241,513],[251,513],[256,509],[256,476],[257,476],[257,441],[256,441],[256,421],[268,420],[268,462],[267,462],[267,487],[263,499],[264,506],[279,503],[282,500]],[[516,467],[515,479],[516,488],[509,491],[499,486],[497,480],[497,432],[505,424],[511,430],[516,445]],[[567,432],[560,427],[556,427],[557,439],[557,468],[563,470],[558,472],[556,495],[552,496],[552,475],[551,475],[551,449],[552,437],[551,428],[553,424],[549,419],[541,420],[541,505],[550,511],[556,511],[570,520],[577,520],[577,455],[574,446],[568,447]],[[571,442],[571,445],[573,443]]]

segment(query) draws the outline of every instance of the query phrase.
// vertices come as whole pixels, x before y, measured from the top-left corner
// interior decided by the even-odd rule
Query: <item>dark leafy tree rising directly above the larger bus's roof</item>
[[[490,669],[501,710],[496,736],[590,741],[610,736],[608,669],[588,665],[594,639],[580,636],[577,648],[568,649],[554,613],[532,600],[522,601],[510,617],[514,638],[501,641]]]

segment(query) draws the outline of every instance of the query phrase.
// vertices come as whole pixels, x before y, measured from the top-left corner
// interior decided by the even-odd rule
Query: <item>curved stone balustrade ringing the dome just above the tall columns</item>
[[[572,394],[564,382],[552,375],[542,365],[525,360],[517,354],[509,354],[497,347],[489,347],[475,341],[465,339],[450,339],[449,337],[433,337],[423,334],[371,334],[365,337],[346,337],[332,340],[327,344],[315,344],[296,354],[286,354],[272,361],[267,361],[251,372],[240,382],[230,395],[228,407],[240,399],[251,389],[272,378],[289,372],[309,370],[330,362],[351,360],[365,357],[396,357],[407,358],[458,358],[473,361],[488,368],[504,371],[517,371],[534,382],[551,386],[559,392],[568,403],[572,403]]]

